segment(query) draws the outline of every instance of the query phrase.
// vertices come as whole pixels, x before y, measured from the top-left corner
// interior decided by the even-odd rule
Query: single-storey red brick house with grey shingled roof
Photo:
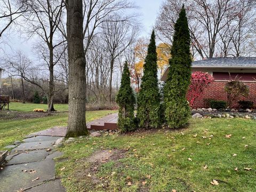
[[[166,81],[168,71],[169,68],[166,68],[161,81]],[[195,108],[207,107],[205,102],[207,98],[227,101],[224,86],[230,77],[234,79],[236,76],[250,89],[249,97],[239,100],[253,101],[256,105],[256,58],[210,58],[194,61],[192,71],[207,72],[214,78],[214,82],[195,100]]]

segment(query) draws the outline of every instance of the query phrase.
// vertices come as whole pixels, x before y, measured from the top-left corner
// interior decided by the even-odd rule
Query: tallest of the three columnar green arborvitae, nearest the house
[[[187,125],[190,116],[186,99],[191,77],[190,35],[184,5],[174,26],[175,33],[164,87],[165,118],[169,127]]]

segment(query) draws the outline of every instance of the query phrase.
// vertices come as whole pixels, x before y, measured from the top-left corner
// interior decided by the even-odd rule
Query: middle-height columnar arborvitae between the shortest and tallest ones
[[[154,30],[148,45],[148,54],[143,68],[143,77],[138,94],[137,117],[141,127],[146,129],[157,128],[160,122],[160,93],[157,79],[157,53]]]

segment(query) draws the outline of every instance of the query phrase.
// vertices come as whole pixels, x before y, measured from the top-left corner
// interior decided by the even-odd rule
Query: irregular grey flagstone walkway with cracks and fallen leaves
[[[53,144],[61,137],[29,135],[9,152],[0,171],[0,191],[62,192],[60,179],[55,178],[55,162],[59,151]]]

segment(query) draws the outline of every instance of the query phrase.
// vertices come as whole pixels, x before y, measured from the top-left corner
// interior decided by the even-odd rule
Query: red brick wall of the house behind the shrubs
[[[206,106],[206,102],[204,99],[216,99],[227,101],[227,93],[224,90],[226,81],[214,81],[204,92],[195,100],[193,108],[197,107],[208,107]],[[247,86],[249,86],[250,93],[247,98],[239,98],[239,100],[249,100],[254,102],[254,106],[256,105],[256,82],[244,82]],[[234,101],[233,107],[237,107],[238,103]]]

